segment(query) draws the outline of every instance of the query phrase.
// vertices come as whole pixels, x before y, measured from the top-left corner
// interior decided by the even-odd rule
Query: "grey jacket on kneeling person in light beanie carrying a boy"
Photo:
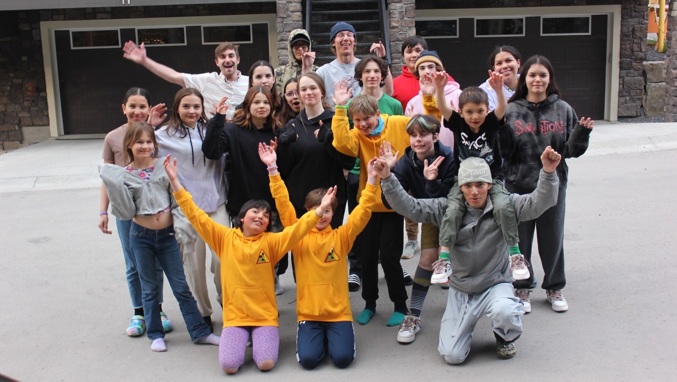
[[[510,194],[517,220],[538,218],[545,210],[557,204],[558,183],[556,172],[541,170],[538,186],[527,195]],[[447,210],[447,198],[414,199],[402,189],[395,176],[381,180],[381,190],[390,206],[415,222],[439,226]],[[494,219],[493,205],[487,197],[483,210],[466,203],[456,245],[450,251],[452,288],[461,293],[482,293],[499,283],[512,283],[508,244]]]

